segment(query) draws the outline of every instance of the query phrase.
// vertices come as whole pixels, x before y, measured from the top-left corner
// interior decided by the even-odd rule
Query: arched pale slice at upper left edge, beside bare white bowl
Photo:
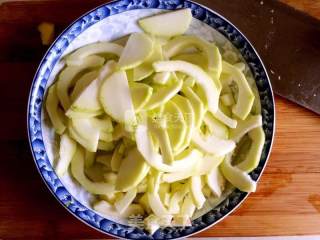
[[[66,63],[68,66],[80,66],[84,64],[85,58],[101,53],[111,53],[120,56],[123,47],[116,43],[109,42],[98,42],[83,46],[70,54],[66,58]]]

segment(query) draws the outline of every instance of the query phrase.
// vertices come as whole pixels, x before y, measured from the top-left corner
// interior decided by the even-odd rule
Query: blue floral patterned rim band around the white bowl
[[[126,239],[174,239],[182,238],[211,226],[230,214],[248,196],[247,193],[235,190],[227,199],[207,214],[195,219],[190,227],[167,227],[159,229],[152,236],[146,231],[115,223],[108,220],[78,202],[63,186],[55,174],[42,137],[41,110],[46,92],[48,78],[55,64],[60,60],[62,53],[77,36],[93,24],[124,11],[134,9],[166,9],[175,10],[190,8],[194,18],[197,18],[219,31],[241,52],[248,63],[256,81],[263,117],[263,129],[266,134],[266,143],[259,166],[250,173],[254,180],[258,180],[266,165],[272,146],[275,121],[275,107],[270,81],[264,66],[249,41],[228,20],[219,14],[197,3],[185,0],[118,0],[102,5],[83,15],[70,25],[54,42],[43,58],[33,80],[28,103],[28,135],[31,151],[36,166],[46,185],[59,202],[74,216],[93,228]]]

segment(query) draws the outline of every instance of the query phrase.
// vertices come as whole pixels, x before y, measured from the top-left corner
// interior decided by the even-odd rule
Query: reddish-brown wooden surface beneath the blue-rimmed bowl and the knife
[[[106,237],[71,216],[49,193],[26,137],[29,87],[46,50],[36,26],[50,21],[60,32],[102,2],[13,1],[0,5],[0,239]],[[285,2],[320,17],[319,1]],[[68,14],[59,16],[63,9]],[[257,192],[199,237],[320,234],[320,117],[279,97],[276,109],[276,139]]]

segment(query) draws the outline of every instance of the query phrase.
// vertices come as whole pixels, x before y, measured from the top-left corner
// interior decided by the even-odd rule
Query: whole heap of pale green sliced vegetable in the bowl
[[[256,188],[258,96],[236,53],[182,35],[191,20],[189,9],[147,17],[144,32],[77,49],[46,99],[57,174],[70,169],[96,211],[142,215],[150,233],[190,225],[227,183]]]

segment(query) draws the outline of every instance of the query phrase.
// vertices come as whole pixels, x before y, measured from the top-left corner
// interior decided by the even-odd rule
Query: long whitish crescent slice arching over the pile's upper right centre
[[[153,63],[156,72],[183,72],[193,77],[205,93],[209,111],[218,110],[220,90],[210,76],[197,65],[185,61],[159,61]]]

